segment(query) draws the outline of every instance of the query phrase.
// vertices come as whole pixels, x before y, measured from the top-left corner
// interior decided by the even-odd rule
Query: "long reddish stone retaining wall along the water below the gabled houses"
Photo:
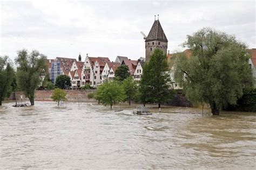
[[[89,93],[95,92],[95,90],[65,90],[68,98],[68,101],[96,101],[95,99],[89,99],[87,98],[87,95]],[[39,101],[51,101],[51,95],[53,90],[37,90],[35,93],[35,100]],[[29,100],[28,98],[25,98],[25,95],[23,92],[15,92],[12,93],[9,98],[6,100],[20,100],[21,96],[23,100]]]

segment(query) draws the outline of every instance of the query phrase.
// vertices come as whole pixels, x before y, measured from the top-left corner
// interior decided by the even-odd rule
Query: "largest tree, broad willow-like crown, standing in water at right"
[[[234,36],[204,28],[187,36],[184,43],[191,57],[176,55],[175,79],[191,101],[211,106],[213,115],[222,107],[236,104],[252,86],[246,45]]]

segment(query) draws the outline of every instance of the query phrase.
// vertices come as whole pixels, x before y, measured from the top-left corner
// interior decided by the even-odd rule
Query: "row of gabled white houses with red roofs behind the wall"
[[[52,83],[56,78],[65,74],[71,79],[72,89],[89,84],[92,87],[104,83],[106,80],[114,78],[114,72],[120,65],[127,65],[129,72],[134,80],[139,83],[142,75],[142,66],[145,58],[131,60],[128,57],[117,56],[115,62],[111,62],[107,57],[89,57],[86,54],[85,61],[82,62],[82,56],[78,56],[78,61],[74,58],[56,57],[48,59],[49,76]]]

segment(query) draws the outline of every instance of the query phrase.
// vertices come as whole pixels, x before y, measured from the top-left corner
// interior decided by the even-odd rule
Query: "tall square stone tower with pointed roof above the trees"
[[[150,60],[150,56],[155,49],[160,49],[164,54],[166,54],[167,47],[168,40],[165,36],[164,30],[161,27],[159,19],[155,19],[149,35],[145,38],[146,62]]]

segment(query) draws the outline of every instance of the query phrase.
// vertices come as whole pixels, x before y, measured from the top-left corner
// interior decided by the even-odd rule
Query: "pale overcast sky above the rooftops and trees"
[[[0,55],[36,49],[49,59],[145,57],[146,35],[159,14],[170,52],[186,35],[212,27],[256,47],[254,1],[1,1]]]

